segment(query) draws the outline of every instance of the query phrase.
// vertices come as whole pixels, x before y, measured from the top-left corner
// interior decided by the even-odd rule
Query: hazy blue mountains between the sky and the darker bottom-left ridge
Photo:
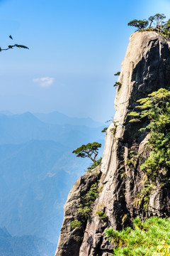
[[[34,235],[55,246],[69,190],[90,164],[72,150],[88,142],[104,144],[102,124],[92,127],[97,123],[80,119],[79,125],[75,119],[60,125],[56,113],[41,114],[46,121],[30,112],[0,114],[0,226],[12,236]]]

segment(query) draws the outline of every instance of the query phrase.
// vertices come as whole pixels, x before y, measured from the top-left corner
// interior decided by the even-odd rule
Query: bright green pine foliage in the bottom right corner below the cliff
[[[135,218],[133,225],[134,228],[128,227],[121,231],[113,228],[106,230],[108,241],[115,245],[113,255],[160,255],[157,252],[166,255],[165,251],[170,245],[170,218],[152,217],[144,222]]]

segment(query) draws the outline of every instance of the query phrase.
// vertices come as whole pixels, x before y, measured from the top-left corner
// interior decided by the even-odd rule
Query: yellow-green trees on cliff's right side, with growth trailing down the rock
[[[149,124],[140,131],[149,133],[149,141],[145,145],[149,156],[145,159],[140,169],[145,175],[143,183],[145,184],[140,196],[135,198],[134,204],[140,206],[144,203],[144,209],[147,210],[149,195],[153,191],[157,176],[164,170],[162,186],[168,181],[170,167],[170,92],[164,88],[157,92],[152,92],[148,97],[138,100],[137,112],[131,112],[129,115],[135,117],[130,122],[142,122],[148,120]]]

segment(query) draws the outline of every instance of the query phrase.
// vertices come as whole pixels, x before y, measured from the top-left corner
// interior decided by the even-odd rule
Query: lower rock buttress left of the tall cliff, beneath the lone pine
[[[78,209],[81,203],[81,197],[89,191],[92,184],[96,183],[101,176],[100,166],[96,167],[91,172],[88,172],[81,176],[71,191],[67,198],[67,202],[64,206],[64,220],[62,224],[62,229],[60,233],[60,240],[58,242],[57,256],[74,256],[79,255],[79,247],[82,241],[77,242],[74,240],[75,236],[83,237],[83,230],[72,230],[70,223],[73,220],[78,219]],[[86,228],[86,222],[84,223],[84,228]]]

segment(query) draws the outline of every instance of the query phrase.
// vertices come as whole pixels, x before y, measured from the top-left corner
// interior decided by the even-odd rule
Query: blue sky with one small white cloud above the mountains
[[[0,112],[111,119],[127,24],[157,13],[170,0],[0,0],[1,48],[29,48],[0,53]]]

